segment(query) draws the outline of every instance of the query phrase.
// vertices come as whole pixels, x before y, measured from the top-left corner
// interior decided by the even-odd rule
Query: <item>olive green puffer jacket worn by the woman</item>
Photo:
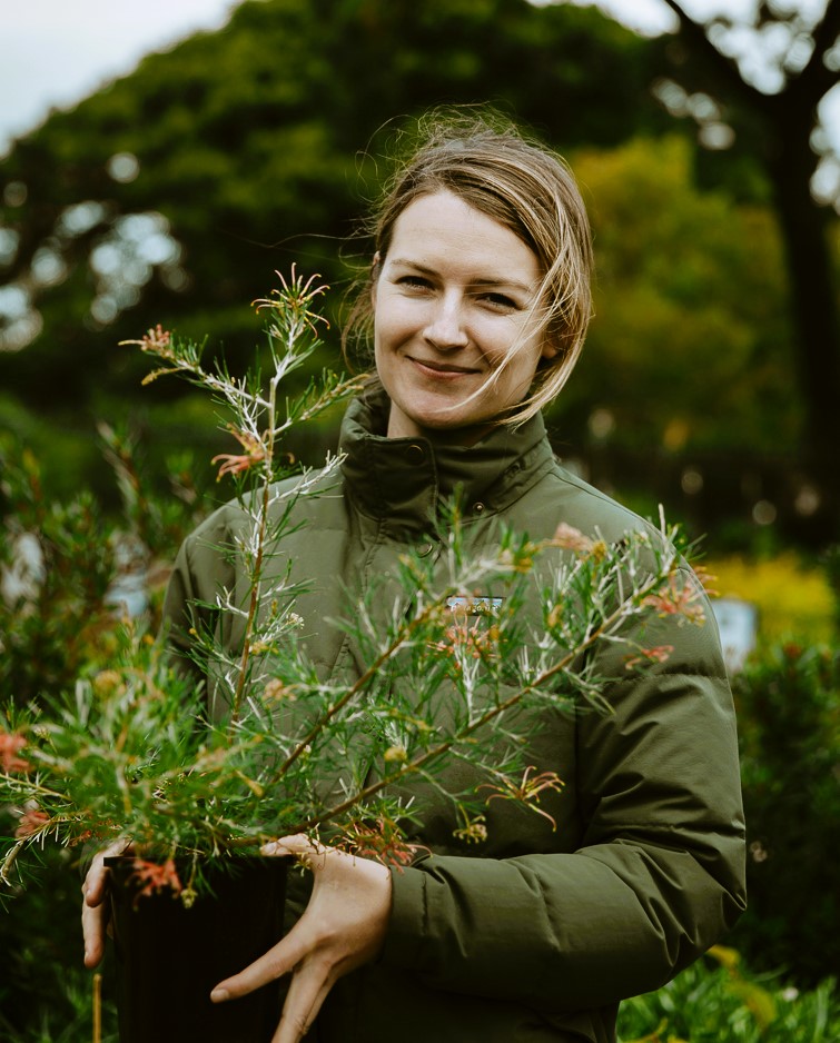
[[[375,396],[350,406],[340,477],[298,501],[305,524],[277,566],[309,582],[296,610],[324,679],[358,673],[352,639],[326,622],[346,610],[346,589],[387,577],[408,546],[437,554],[429,518],[456,488],[476,548],[500,519],[533,539],[560,523],[606,540],[645,525],[557,464],[538,416],[465,448],[383,437],[385,409]],[[176,643],[188,642],[191,600],[241,586],[214,549],[240,525],[239,508],[223,507],[181,548],[166,606]],[[744,830],[732,701],[706,615],[702,627],[656,620],[645,640],[673,653],[642,675],[606,664],[619,677],[611,714],[540,722],[527,763],[565,783],[541,804],[556,830],[493,801],[486,843],[459,846],[448,805],[424,807],[419,840],[433,853],[394,871],[384,952],[338,982],[309,1037],[609,1043],[619,1001],[659,987],[732,925],[744,907]],[[235,625],[221,625],[236,648]],[[468,768],[453,773],[453,785],[470,785]]]

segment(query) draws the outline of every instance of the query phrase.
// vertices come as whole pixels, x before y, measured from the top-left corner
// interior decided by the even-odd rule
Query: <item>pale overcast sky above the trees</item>
[[[546,2],[546,0],[534,0]],[[575,0],[585,2],[585,0]],[[71,107],[144,54],[172,47],[198,30],[221,28],[238,0],[0,0],[0,157],[11,139],[33,129],[51,108]],[[800,7],[820,0],[798,0]],[[663,0],[599,0],[625,24],[649,34],[675,27]],[[751,0],[690,0],[692,13]],[[823,111],[840,148],[840,90]]]

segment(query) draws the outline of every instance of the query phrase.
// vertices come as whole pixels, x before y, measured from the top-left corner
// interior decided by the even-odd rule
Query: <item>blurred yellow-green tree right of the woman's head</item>
[[[792,450],[801,418],[768,209],[699,188],[683,138],[572,159],[597,278],[586,349],[557,411],[651,461],[658,451]]]

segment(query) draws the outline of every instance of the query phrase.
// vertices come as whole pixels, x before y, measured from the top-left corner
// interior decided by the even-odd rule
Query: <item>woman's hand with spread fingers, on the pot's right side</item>
[[[244,996],[291,973],[283,1017],[271,1043],[297,1043],[335,982],[374,960],[385,941],[391,915],[391,872],[306,836],[266,844],[264,855],[297,855],[315,877],[304,915],[289,933],[250,966],[219,982],[215,1003]]]

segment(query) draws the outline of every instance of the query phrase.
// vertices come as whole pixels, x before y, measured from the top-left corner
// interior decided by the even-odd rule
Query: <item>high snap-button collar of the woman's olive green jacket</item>
[[[342,466],[358,509],[399,538],[428,532],[456,495],[466,517],[504,510],[554,459],[540,414],[515,430],[495,428],[474,446],[387,438],[387,414],[382,390],[354,399],[342,425]]]

